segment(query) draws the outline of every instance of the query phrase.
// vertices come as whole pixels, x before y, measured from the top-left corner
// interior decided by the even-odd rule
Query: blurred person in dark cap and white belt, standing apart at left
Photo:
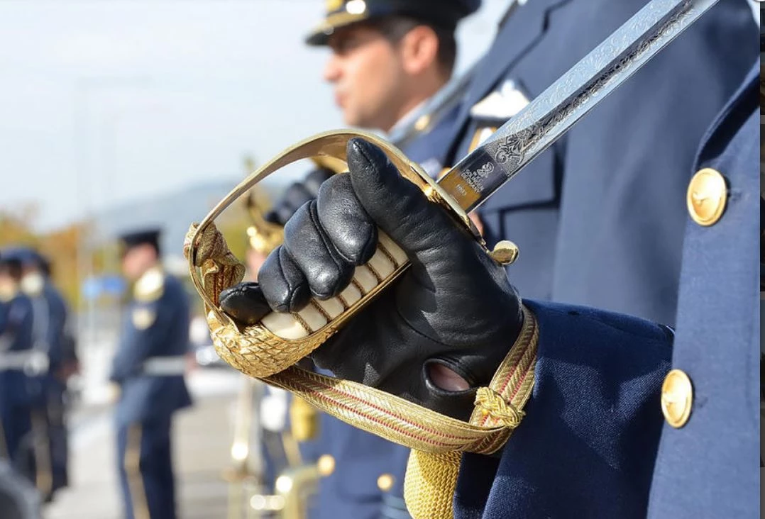
[[[122,271],[132,281],[111,380],[119,384],[119,478],[127,519],[173,519],[171,422],[191,404],[184,382],[189,304],[181,282],[162,271],[160,232],[122,235]]]

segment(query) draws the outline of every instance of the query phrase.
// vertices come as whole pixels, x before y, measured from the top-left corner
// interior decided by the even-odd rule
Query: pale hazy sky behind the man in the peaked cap
[[[457,72],[509,0],[457,32]],[[0,0],[0,209],[55,229],[91,212],[243,177],[343,126],[304,35],[322,0]],[[302,170],[272,181],[285,182]],[[232,184],[233,185],[233,184]]]

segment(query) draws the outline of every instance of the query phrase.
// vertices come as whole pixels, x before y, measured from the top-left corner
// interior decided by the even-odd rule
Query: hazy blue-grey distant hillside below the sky
[[[192,222],[199,222],[241,179],[216,180],[174,193],[164,193],[125,203],[96,216],[98,242],[107,242],[122,232],[156,226],[163,230],[161,247],[168,259],[181,258],[184,237]],[[262,184],[269,198],[275,199],[282,186]]]

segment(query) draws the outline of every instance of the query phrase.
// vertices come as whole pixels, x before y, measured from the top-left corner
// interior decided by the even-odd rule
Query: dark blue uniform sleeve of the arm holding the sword
[[[525,303],[539,323],[532,397],[500,459],[464,455],[455,517],[645,517],[672,331]]]

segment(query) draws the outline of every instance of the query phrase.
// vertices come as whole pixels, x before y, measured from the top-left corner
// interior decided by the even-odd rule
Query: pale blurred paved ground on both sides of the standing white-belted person
[[[225,518],[229,486],[221,474],[230,465],[239,375],[197,370],[189,384],[196,406],[177,414],[174,424],[179,519]],[[109,407],[90,405],[78,410],[72,430],[72,485],[47,505],[44,518],[120,519]]]

